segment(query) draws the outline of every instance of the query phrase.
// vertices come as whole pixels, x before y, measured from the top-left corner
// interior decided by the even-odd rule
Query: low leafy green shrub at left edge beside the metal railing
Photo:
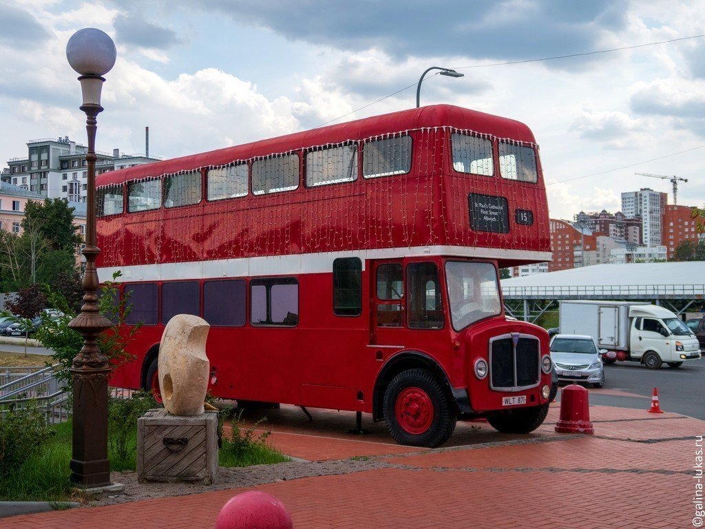
[[[10,408],[0,417],[0,478],[16,473],[49,439],[51,430],[38,408]]]

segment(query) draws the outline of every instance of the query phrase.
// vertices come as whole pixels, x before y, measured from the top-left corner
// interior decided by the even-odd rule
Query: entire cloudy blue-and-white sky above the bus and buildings
[[[670,193],[635,171],[705,202],[705,37],[683,39],[705,32],[705,0],[0,0],[0,20],[0,163],[31,139],[85,142],[65,49],[94,27],[118,49],[98,150],[145,152],[145,126],[169,158],[407,109],[443,66],[465,77],[427,77],[422,104],[527,123],[552,217]]]

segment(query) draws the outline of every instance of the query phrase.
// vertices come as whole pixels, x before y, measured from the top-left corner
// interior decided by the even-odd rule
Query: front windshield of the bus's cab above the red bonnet
[[[448,304],[453,329],[501,313],[497,271],[488,262],[446,262]]]

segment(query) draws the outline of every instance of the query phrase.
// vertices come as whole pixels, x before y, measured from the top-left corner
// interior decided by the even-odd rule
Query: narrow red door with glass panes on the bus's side
[[[403,260],[375,261],[373,272],[370,345],[380,346],[388,353],[392,348],[399,350],[405,345]],[[384,358],[387,357],[388,354],[384,354]]]

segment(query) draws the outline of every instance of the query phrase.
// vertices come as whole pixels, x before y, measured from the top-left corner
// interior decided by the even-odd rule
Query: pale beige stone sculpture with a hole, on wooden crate
[[[159,344],[159,389],[172,415],[200,415],[208,390],[206,320],[178,314],[166,324]]]

